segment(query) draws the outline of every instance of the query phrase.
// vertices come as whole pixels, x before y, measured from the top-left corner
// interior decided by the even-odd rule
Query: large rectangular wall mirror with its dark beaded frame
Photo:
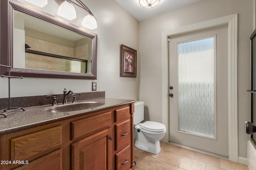
[[[1,17],[6,5],[8,29],[1,18],[1,39],[7,32],[8,53],[1,49],[0,64],[10,66],[11,75],[97,79],[96,34],[12,0],[1,1]],[[7,68],[0,71],[8,74]]]

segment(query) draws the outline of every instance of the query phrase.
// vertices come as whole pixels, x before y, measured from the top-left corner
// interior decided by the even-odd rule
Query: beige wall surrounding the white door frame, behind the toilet
[[[162,32],[238,13],[238,149],[247,157],[249,135],[244,122],[250,120],[250,41],[252,0],[202,0],[190,6],[140,21],[140,101],[146,120],[162,122]],[[166,87],[168,88],[168,87]]]

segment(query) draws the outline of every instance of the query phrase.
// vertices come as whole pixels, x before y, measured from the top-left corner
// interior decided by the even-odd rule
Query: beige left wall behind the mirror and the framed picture
[[[82,0],[97,18],[98,34],[97,80],[53,78],[23,78],[11,80],[11,96],[61,94],[64,88],[74,92],[91,92],[92,81],[98,91],[108,98],[135,99],[139,97],[139,76],[120,77],[120,45],[139,49],[139,22],[114,0]],[[82,20],[82,19],[81,19]],[[138,59],[138,64],[140,64]],[[22,74],[21,74],[22,76]],[[8,79],[0,78],[0,98],[8,97]]]

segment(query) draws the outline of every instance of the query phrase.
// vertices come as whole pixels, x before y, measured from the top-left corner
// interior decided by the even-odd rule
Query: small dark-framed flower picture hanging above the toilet
[[[120,76],[136,77],[137,51],[125,45],[121,45],[120,61],[121,61]]]

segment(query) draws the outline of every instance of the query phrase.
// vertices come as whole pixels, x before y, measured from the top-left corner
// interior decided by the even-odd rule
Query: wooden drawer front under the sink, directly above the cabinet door
[[[109,128],[111,112],[71,122],[71,140],[92,135],[102,129]]]

